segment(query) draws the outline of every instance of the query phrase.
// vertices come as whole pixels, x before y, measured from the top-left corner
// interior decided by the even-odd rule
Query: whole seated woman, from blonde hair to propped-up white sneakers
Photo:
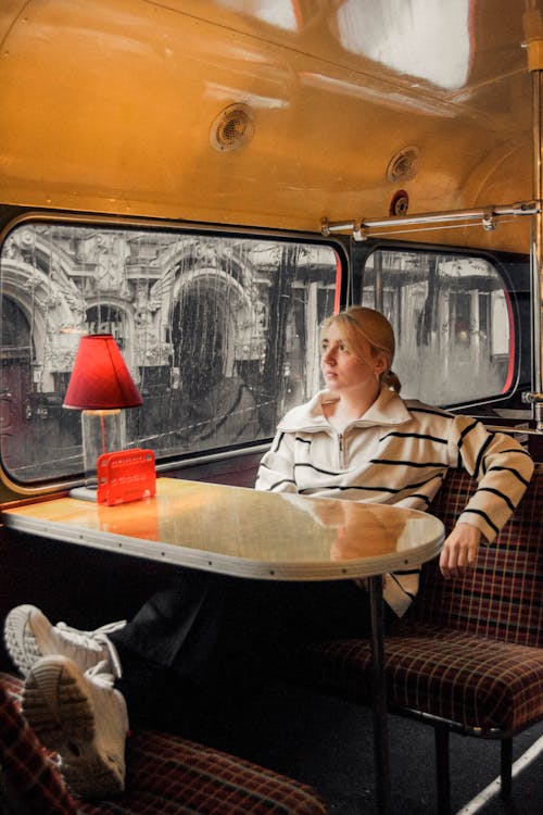
[[[394,336],[371,309],[354,306],[321,329],[326,389],[279,423],[256,488],[426,510],[450,466],[479,488],[460,513],[440,559],[454,578],[473,566],[531,477],[528,454],[471,417],[400,398],[391,372]],[[24,710],[42,741],[59,751],[79,794],[124,787],[124,738],[175,676],[176,700],[201,711],[215,698],[245,693],[315,639],[363,637],[369,603],[354,581],[274,584],[179,569],[127,625],[80,632],[52,626],[34,606],[5,622],[8,650],[26,674]],[[418,574],[388,577],[386,618],[397,619]],[[115,630],[114,630],[115,629]],[[50,711],[54,710],[54,718]],[[169,709],[166,710],[169,715]]]

